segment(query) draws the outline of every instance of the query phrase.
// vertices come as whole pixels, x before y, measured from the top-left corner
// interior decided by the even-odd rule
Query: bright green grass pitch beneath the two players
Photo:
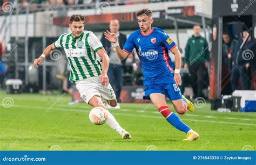
[[[7,108],[3,105],[8,97],[13,106]],[[133,137],[123,140],[106,124],[92,125],[91,107],[68,105],[70,99],[70,95],[6,95],[0,91],[0,149],[50,150],[55,145],[62,150],[146,150],[148,146],[158,150],[242,150],[246,145],[256,149],[256,113],[220,113],[211,111],[209,103],[187,111],[180,118],[200,138],[185,142],[181,141],[185,134],[167,123],[153,105],[121,104],[121,110],[110,112]]]

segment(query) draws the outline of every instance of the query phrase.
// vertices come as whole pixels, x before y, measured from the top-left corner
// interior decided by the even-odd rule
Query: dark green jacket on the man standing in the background
[[[188,39],[185,48],[185,62],[188,65],[193,63],[205,63],[210,59],[210,52],[208,51],[208,43],[204,37],[192,37]]]

